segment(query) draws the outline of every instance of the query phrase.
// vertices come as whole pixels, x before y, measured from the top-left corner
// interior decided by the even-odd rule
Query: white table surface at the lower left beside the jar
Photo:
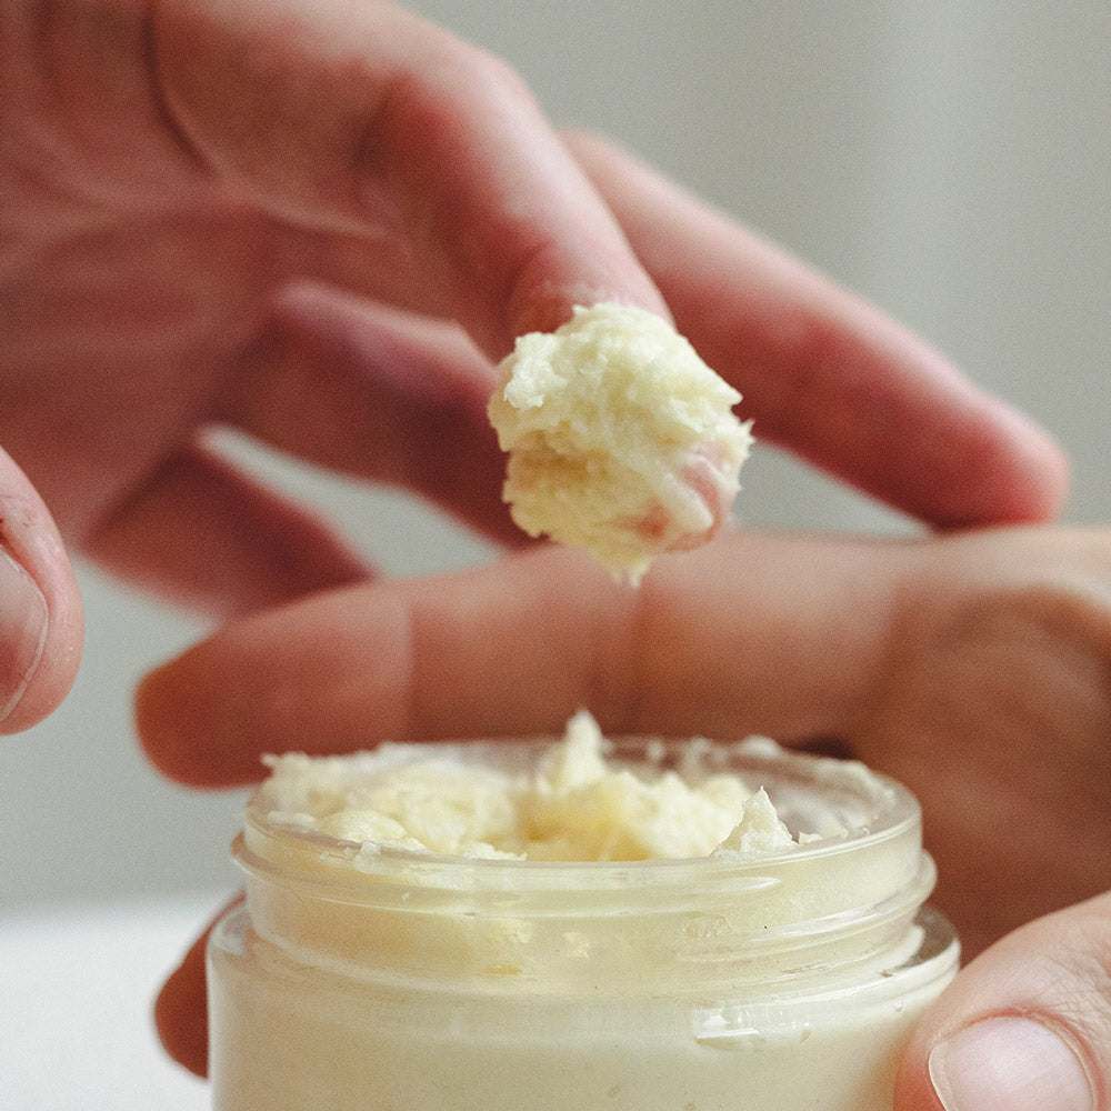
[[[206,1111],[151,1020],[158,985],[226,894],[0,912],[0,1107]]]

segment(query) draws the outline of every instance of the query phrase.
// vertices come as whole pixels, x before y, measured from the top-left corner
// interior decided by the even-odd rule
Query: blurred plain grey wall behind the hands
[[[1068,520],[1111,521],[1107,0],[413,7],[508,59],[558,122],[618,138],[1035,416],[1073,460]],[[393,572],[488,558],[403,497],[283,481]],[[900,527],[767,449],[744,484],[750,526]],[[230,890],[240,797],[160,782],[130,719],[137,679],[202,630],[81,574],[72,697],[0,745],[0,912]]]

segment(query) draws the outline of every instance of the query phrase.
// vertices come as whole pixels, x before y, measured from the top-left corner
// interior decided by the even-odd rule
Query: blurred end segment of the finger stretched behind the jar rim
[[[263,778],[267,752],[398,738],[407,614],[404,591],[363,583],[224,625],[138,684],[143,751],[174,782],[233,788]]]

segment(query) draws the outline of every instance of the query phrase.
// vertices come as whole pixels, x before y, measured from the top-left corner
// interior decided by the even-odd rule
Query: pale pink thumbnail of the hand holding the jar
[[[1032,1019],[984,1019],[935,1045],[930,1080],[945,1111],[1093,1111],[1080,1059]]]

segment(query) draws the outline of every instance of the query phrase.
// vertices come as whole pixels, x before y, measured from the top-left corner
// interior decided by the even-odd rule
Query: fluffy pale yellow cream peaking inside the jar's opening
[[[638,774],[609,765],[603,743],[582,712],[529,774],[451,758],[391,763],[389,749],[377,759],[283,755],[270,761],[269,820],[379,848],[484,858],[653,860],[795,847],[767,793],[738,775]]]

